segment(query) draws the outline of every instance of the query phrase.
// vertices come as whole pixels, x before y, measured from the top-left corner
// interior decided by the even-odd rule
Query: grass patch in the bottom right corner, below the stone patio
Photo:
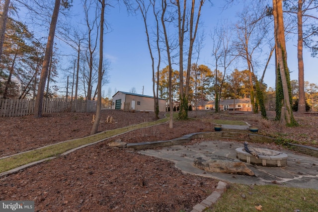
[[[318,191],[280,186],[232,184],[222,197],[205,212],[318,212]]]

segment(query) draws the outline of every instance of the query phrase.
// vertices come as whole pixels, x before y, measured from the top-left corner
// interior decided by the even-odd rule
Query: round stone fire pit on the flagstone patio
[[[246,152],[244,147],[236,149],[237,158],[240,161],[260,166],[281,167],[287,165],[288,156],[283,152],[265,148],[253,148],[253,150],[258,153],[259,158]]]

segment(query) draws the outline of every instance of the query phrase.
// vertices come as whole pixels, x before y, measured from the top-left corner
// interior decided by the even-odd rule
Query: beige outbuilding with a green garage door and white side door
[[[125,111],[154,111],[154,97],[118,91],[113,95],[111,108]],[[164,112],[165,108],[166,100],[159,98],[159,111]]]

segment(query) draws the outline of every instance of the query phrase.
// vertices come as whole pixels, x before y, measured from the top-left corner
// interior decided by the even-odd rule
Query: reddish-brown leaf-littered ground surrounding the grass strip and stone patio
[[[108,116],[116,123],[106,123]],[[163,116],[161,113],[160,117]],[[174,122],[173,129],[161,124],[132,131],[2,177],[0,200],[34,200],[35,211],[39,212],[189,212],[214,191],[217,180],[183,174],[169,161],[110,148],[107,143],[117,139],[124,142],[169,140],[189,133],[213,131],[214,120],[226,119],[259,126],[262,134],[318,147],[317,115],[295,114],[300,124],[295,128],[281,127],[272,121],[274,114],[268,116],[266,121],[260,119],[259,114],[216,115],[211,111],[191,111],[191,119]],[[91,120],[89,113],[58,113],[41,119],[0,117],[0,157],[88,136]],[[152,112],[104,110],[99,131],[153,120]]]

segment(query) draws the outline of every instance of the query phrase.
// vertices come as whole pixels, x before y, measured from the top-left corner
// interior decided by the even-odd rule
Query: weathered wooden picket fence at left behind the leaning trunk
[[[0,117],[27,116],[34,113],[35,100],[32,99],[0,99]],[[63,111],[87,112],[96,111],[94,100],[44,99],[42,114]]]

